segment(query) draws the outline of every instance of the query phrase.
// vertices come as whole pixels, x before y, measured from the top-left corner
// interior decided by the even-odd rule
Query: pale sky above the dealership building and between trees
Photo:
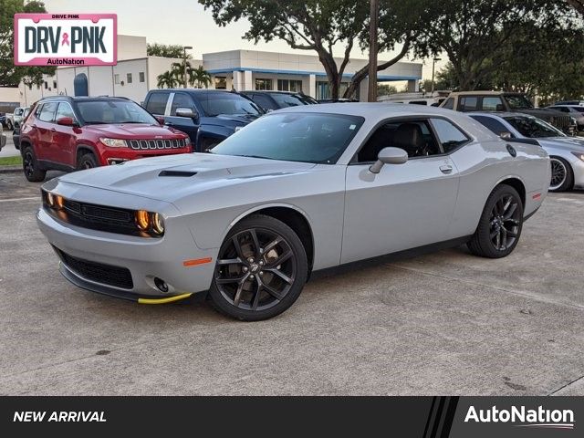
[[[44,0],[49,13],[118,14],[118,33],[121,35],[146,36],[149,43],[192,46],[191,54],[200,59],[203,53],[234,49],[266,50],[281,53],[311,53],[293,50],[281,40],[269,43],[242,38],[249,28],[246,20],[225,27],[217,26],[210,10],[205,11],[196,0]],[[400,47],[398,47],[400,48]],[[335,47],[341,56],[343,47]],[[351,57],[367,57],[360,48],[354,48]],[[381,53],[379,59],[391,59],[391,53]],[[436,70],[445,61],[436,63]],[[432,61],[426,60],[423,78],[432,78]]]

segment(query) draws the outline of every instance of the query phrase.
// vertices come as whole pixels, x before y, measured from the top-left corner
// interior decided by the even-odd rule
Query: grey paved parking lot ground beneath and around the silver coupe
[[[38,186],[0,173],[2,395],[584,394],[584,193],[550,194],[506,259],[363,263],[242,323],[69,285]]]

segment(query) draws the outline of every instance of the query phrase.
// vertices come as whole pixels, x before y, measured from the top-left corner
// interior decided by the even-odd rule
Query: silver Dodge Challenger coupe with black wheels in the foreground
[[[549,181],[546,151],[464,113],[328,104],[272,112],[209,153],[68,173],[36,217],[78,287],[141,303],[208,291],[259,320],[319,269],[462,244],[506,256]]]

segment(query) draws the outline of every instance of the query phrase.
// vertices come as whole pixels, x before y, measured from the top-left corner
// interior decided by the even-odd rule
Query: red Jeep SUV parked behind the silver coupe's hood
[[[188,135],[162,126],[124,98],[41,99],[20,131],[23,169],[32,182],[43,181],[48,170],[70,172],[191,151]]]

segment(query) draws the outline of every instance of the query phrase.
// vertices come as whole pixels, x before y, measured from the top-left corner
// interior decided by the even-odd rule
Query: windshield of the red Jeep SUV
[[[158,121],[136,102],[131,100],[87,100],[78,101],[77,108],[86,124],[148,123]]]

